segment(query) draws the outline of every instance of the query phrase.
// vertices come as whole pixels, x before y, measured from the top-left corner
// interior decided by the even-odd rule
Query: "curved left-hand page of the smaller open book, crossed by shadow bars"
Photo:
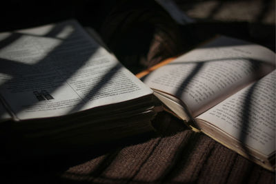
[[[273,68],[274,52],[219,37],[150,73],[144,83],[179,97],[197,116]]]

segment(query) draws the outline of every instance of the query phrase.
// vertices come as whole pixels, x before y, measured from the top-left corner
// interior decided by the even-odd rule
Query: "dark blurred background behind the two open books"
[[[183,12],[188,24],[177,21]],[[94,28],[134,73],[186,52],[215,34],[253,41],[275,51],[274,0],[12,0],[1,6],[0,32],[66,19]]]

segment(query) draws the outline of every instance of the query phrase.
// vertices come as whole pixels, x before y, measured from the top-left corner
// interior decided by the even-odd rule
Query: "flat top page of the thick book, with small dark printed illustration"
[[[152,93],[76,21],[0,34],[0,48],[0,94],[18,119]]]

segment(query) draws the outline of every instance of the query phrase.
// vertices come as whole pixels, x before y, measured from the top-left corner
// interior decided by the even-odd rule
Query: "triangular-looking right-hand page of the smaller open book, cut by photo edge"
[[[197,119],[268,155],[275,151],[275,70]]]

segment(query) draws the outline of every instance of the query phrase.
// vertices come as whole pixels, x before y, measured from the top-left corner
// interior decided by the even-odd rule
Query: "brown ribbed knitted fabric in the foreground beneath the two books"
[[[165,112],[156,134],[1,165],[7,183],[275,183],[275,173]],[[133,141],[135,140],[135,141]]]

